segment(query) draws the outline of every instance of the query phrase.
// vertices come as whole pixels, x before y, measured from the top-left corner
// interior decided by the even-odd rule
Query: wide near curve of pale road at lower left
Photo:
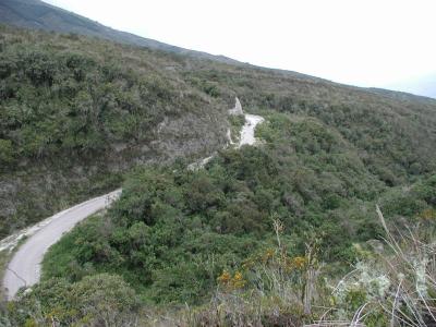
[[[7,299],[12,300],[20,288],[38,282],[45,253],[63,233],[89,215],[109,206],[120,194],[121,190],[117,190],[48,218],[51,221],[29,237],[9,263],[3,278]]]

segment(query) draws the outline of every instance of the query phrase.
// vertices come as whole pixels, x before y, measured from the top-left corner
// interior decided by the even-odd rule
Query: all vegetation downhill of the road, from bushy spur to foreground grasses
[[[109,274],[136,294],[138,306],[125,307],[133,325],[384,326],[393,310],[393,319],[425,326],[432,291],[424,300],[413,292],[416,274],[433,267],[436,177],[389,187],[316,119],[264,114],[258,147],[222,150],[204,170],[182,161],[137,168],[120,201],[56,244],[43,282],[14,302],[20,313],[43,305],[39,316],[9,311],[10,317],[48,322],[55,311],[61,325],[82,322],[75,300],[50,302],[51,284],[70,292]],[[401,229],[387,233],[393,222],[413,227],[413,238]],[[419,268],[414,258],[426,264]],[[402,284],[393,271],[402,271]],[[431,290],[434,272],[425,271]],[[395,303],[399,287],[408,293]],[[98,325],[104,314],[105,307],[86,318]],[[121,310],[113,319],[124,317]]]

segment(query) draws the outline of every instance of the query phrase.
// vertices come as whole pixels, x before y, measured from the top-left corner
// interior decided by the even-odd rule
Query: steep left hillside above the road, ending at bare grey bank
[[[227,108],[181,80],[181,59],[1,28],[0,234],[117,187],[140,162],[226,142]]]

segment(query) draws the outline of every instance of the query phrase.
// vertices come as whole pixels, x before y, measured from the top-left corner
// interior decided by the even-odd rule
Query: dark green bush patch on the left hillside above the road
[[[112,142],[144,141],[149,135],[142,131],[161,121],[169,113],[164,101],[175,97],[158,74],[140,75],[116,60],[78,51],[10,45],[0,62],[0,137],[21,157],[104,152]]]

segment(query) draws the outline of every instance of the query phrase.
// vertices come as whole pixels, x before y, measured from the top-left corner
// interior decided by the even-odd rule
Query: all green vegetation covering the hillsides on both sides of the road
[[[435,100],[75,35],[2,27],[0,45],[1,233],[123,187],[52,246],[43,281],[2,308],[11,326],[286,326],[316,307],[352,319],[392,299],[374,298],[362,269],[359,290],[332,295],[362,262],[391,275],[374,263],[387,238],[376,205],[433,253]],[[223,148],[242,123],[226,113],[234,96],[265,118],[255,147]],[[425,325],[434,289],[401,317]],[[366,317],[389,319],[378,306]]]

